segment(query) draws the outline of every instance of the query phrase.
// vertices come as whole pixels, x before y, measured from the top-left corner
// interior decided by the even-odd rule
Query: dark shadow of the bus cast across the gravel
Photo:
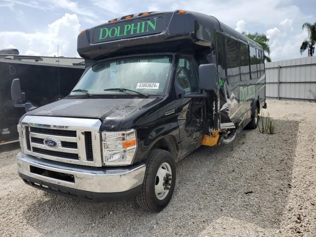
[[[174,196],[158,214],[143,211],[135,200],[86,203],[43,192],[24,218],[43,236],[198,236],[224,217],[277,228],[294,188],[298,126],[276,120],[274,135],[247,130],[232,144],[199,148],[177,164]]]

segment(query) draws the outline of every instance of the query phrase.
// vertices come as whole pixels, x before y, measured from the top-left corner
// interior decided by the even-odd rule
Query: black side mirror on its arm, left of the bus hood
[[[18,78],[12,80],[11,98],[14,101],[14,107],[25,108],[26,112],[37,108],[32,103],[23,103],[23,100],[25,100],[25,93],[21,91],[20,79]]]

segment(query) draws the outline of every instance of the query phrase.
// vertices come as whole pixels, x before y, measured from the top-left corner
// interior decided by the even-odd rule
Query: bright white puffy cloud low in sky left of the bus
[[[44,32],[0,32],[0,48],[15,45],[21,54],[53,56],[78,56],[77,36],[80,32],[76,14],[66,13],[62,18],[49,24]]]

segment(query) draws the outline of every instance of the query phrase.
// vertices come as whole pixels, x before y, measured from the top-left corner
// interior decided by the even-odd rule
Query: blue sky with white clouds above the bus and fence
[[[81,30],[137,12],[183,9],[217,17],[239,32],[265,33],[272,61],[307,57],[300,54],[316,22],[315,0],[0,0],[0,49],[20,54],[79,57]]]

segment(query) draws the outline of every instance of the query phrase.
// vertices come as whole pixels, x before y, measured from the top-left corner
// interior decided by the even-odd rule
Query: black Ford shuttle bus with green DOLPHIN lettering
[[[64,99],[18,125],[26,184],[86,201],[136,197],[157,212],[175,163],[200,145],[254,129],[265,103],[261,45],[215,17],[176,10],[118,17],[82,31],[86,69]],[[18,83],[12,99],[23,106]]]

